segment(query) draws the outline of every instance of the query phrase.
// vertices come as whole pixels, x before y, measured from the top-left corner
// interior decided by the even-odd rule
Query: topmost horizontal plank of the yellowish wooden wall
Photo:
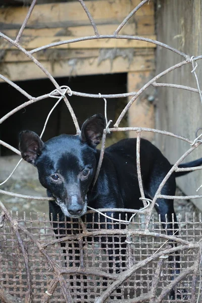
[[[139,4],[139,0],[100,0],[85,1],[85,4],[94,18],[96,24],[121,23],[123,19]],[[0,10],[1,28],[20,28],[28,12],[28,7],[8,7]],[[149,1],[136,16],[147,16],[154,14],[154,3]],[[130,22],[133,21],[131,18]],[[89,24],[79,2],[52,3],[36,5],[28,21],[28,28],[41,27],[64,27],[70,25]]]

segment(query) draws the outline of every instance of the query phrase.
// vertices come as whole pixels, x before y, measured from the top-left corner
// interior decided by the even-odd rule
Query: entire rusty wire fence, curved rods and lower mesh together
[[[149,208],[144,210],[136,210],[139,214],[136,221],[133,221],[130,225],[126,225],[125,229],[121,229],[120,225],[123,223],[116,223],[114,228],[111,230],[107,229],[107,222],[105,226],[103,224],[96,224],[89,227],[86,226],[85,220],[81,220],[77,223],[71,223],[72,235],[67,235],[63,239],[56,239],[51,227],[50,221],[44,216],[43,218],[36,217],[34,215],[28,218],[18,218],[9,213],[2,202],[0,206],[2,208],[0,224],[2,227],[1,232],[1,247],[0,247],[0,261],[2,268],[2,276],[0,283],[0,298],[4,302],[96,302],[101,303],[104,301],[109,302],[162,302],[171,301],[168,297],[171,288],[175,287],[177,301],[184,301],[182,289],[186,288],[188,293],[188,300],[192,303],[199,302],[201,300],[201,217],[195,221],[189,222],[185,220],[179,222],[179,235],[173,236],[167,235],[162,230],[161,222],[154,221],[151,213],[155,206],[158,198],[166,197],[172,199],[173,196],[165,196],[161,194],[161,190],[168,180],[169,176],[174,171],[181,171],[178,165],[188,156],[195,148],[197,148],[201,141],[200,136],[196,139],[191,140],[185,137],[176,135],[171,132],[141,128],[141,127],[126,127],[120,128],[119,124],[127,113],[132,103],[141,95],[141,93],[150,85],[153,86],[167,86],[175,87],[179,89],[186,89],[189,91],[197,92],[201,98],[201,91],[199,88],[197,75],[196,75],[196,61],[202,59],[201,56],[190,57],[177,49],[166,45],[162,42],[151,40],[145,37],[119,35],[121,28],[127,23],[127,21],[139,10],[143,5],[146,5],[148,0],[143,0],[134,10],[123,20],[119,25],[114,34],[100,35],[94,23],[94,20],[85,6],[83,0],[78,0],[82,5],[93,29],[94,35],[88,37],[75,38],[67,41],[60,41],[44,45],[27,51],[23,48],[19,41],[23,35],[23,30],[29,20],[29,17],[34,9],[36,0],[33,0],[30,6],[27,17],[25,18],[23,25],[15,40],[0,33],[0,36],[6,41],[10,42],[16,48],[20,49],[30,60],[32,60],[52,81],[55,85],[56,90],[48,94],[33,97],[26,91],[21,89],[18,85],[10,81],[3,75],[0,78],[15,87],[23,95],[28,98],[28,101],[24,104],[16,107],[14,110],[9,112],[7,115],[0,119],[0,123],[3,123],[6,119],[12,116],[14,113],[19,111],[26,106],[39,102],[40,100],[49,96],[58,97],[58,102],[64,99],[68,110],[71,113],[73,122],[75,124],[76,133],[79,134],[80,129],[74,111],[69,103],[69,100],[65,93],[80,95],[83,97],[125,97],[132,96],[130,102],[123,109],[121,115],[117,119],[114,127],[109,128],[111,132],[114,131],[136,131],[137,133],[137,172],[138,182],[141,192],[141,198],[144,200],[144,191],[141,180],[141,168],[140,168],[140,136],[142,131],[149,131],[154,133],[160,133],[168,136],[172,136],[188,143],[189,148],[182,155],[182,157],[173,165],[167,176],[161,182]],[[57,81],[52,75],[37,61],[33,54],[42,51],[49,47],[59,46],[61,44],[75,43],[78,41],[90,40],[90,39],[136,39],[156,45],[165,47],[170,51],[180,55],[184,61],[168,68],[167,70],[156,75],[153,79],[149,80],[143,87],[137,92],[130,92],[119,95],[95,95],[95,94],[84,94],[81,92],[68,90],[67,87],[60,87]],[[168,83],[157,83],[165,74],[182,67],[186,64],[192,64],[193,74],[196,78],[197,89]],[[43,133],[43,131],[42,131]],[[41,133],[41,135],[42,135]],[[105,139],[107,135],[107,128],[103,134],[102,152],[100,153],[100,161],[97,168],[97,173],[100,166],[102,165],[102,159],[105,150]],[[20,155],[20,151],[9,145],[8,143],[0,140],[0,143],[16,154]],[[190,146],[191,145],[191,146]],[[195,168],[200,169],[200,168]],[[193,170],[193,168],[189,168]],[[23,197],[26,199],[40,199],[48,200],[47,197],[32,197],[23,194],[16,194],[0,190],[0,193],[12,195],[16,197]],[[180,196],[175,197],[179,199],[198,198],[202,195],[195,196]],[[146,202],[144,201],[144,206]],[[119,210],[121,212],[123,210]],[[145,220],[142,223],[140,220],[140,214],[143,215]],[[98,215],[99,217],[99,215]],[[99,220],[98,220],[99,222]],[[174,223],[172,222],[173,226]],[[68,227],[67,227],[68,226]],[[102,227],[102,228],[101,228]],[[103,228],[104,227],[104,228]],[[62,229],[64,231],[69,228],[67,222],[64,222]],[[60,232],[60,224],[58,223],[58,230]],[[73,233],[73,230],[76,233]],[[64,234],[63,234],[64,235]],[[122,237],[127,238],[127,246],[125,250],[125,265],[120,258],[122,254]],[[109,241],[108,238],[111,238]],[[95,239],[96,238],[96,239]],[[96,241],[95,241],[96,240]],[[66,251],[60,247],[60,242],[68,244]],[[105,241],[107,249],[100,246],[100,242]],[[178,246],[169,246],[171,241],[175,241]],[[85,245],[83,245],[85,244]],[[163,245],[164,244],[164,245]],[[108,256],[106,251],[113,245],[111,266],[109,266]],[[116,249],[115,249],[116,247]],[[181,273],[177,276],[171,276],[169,272],[169,261],[168,255],[174,251],[178,251],[181,256]],[[66,260],[64,259],[66,257]],[[80,256],[80,261],[77,261],[76,256]],[[72,257],[72,258],[71,258]],[[110,269],[116,269],[116,257],[119,259],[121,264],[120,273],[111,273]],[[114,260],[114,261],[113,261]],[[72,263],[72,266],[69,264]],[[78,263],[78,264],[76,264]],[[174,262],[175,265],[176,262]],[[67,267],[66,267],[67,265]],[[78,265],[78,266],[77,266]],[[106,283],[107,281],[107,283]],[[182,283],[182,284],[181,284]],[[187,301],[187,300],[186,300]]]

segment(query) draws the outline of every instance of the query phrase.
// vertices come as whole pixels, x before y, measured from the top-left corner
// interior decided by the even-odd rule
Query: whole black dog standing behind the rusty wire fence
[[[97,181],[92,186],[100,151],[96,149],[102,139],[105,119],[94,115],[87,119],[80,135],[60,135],[43,143],[32,131],[20,133],[22,158],[38,169],[39,181],[47,189],[49,213],[53,220],[64,221],[65,216],[77,219],[87,211],[87,205],[94,208],[139,209],[140,191],[136,169],[136,139],[124,139],[106,148]],[[202,164],[202,158],[179,167]],[[140,143],[140,166],[145,195],[153,198],[171,164],[161,151],[145,139]],[[186,174],[173,173],[162,189],[162,194],[175,195],[175,177]],[[161,220],[176,222],[173,200],[158,199],[156,210]],[[116,215],[115,215],[116,217]],[[57,225],[56,225],[57,227]],[[173,234],[172,224],[167,226]],[[175,224],[174,229],[178,229]],[[56,230],[56,233],[58,231]],[[177,233],[176,233],[177,234]],[[176,256],[179,262],[179,257]],[[179,263],[176,266],[179,268]],[[179,271],[178,271],[179,272]]]

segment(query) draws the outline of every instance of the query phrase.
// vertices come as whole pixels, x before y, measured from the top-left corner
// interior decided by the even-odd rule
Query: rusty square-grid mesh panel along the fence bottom
[[[151,232],[148,235],[143,235],[145,224],[140,216],[137,216],[130,225],[123,226],[124,224],[122,224],[125,229],[117,228],[120,223],[106,222],[103,224],[100,221],[96,224],[96,228],[93,228],[93,222],[91,222],[92,226],[88,226],[85,220],[82,224],[81,221],[80,223],[64,222],[63,228],[60,222],[60,224],[58,223],[60,234],[64,237],[65,232],[67,235],[65,251],[59,243],[62,240],[60,238],[56,240],[52,227],[53,222],[50,222],[45,216],[41,218],[30,214],[30,218],[13,216],[12,219],[16,219],[19,227],[26,227],[28,231],[28,234],[25,234],[19,228],[21,239],[28,254],[32,281],[32,302],[41,302],[46,296],[45,291],[58,279],[57,273],[51,266],[52,261],[63,275],[67,287],[70,289],[73,302],[95,302],[95,298],[107,291],[107,287],[117,281],[121,275],[122,282],[110,293],[106,302],[116,302],[117,299],[135,302],[138,297],[142,298],[147,295],[154,286],[158,298],[163,290],[168,288],[172,279],[178,276],[170,272],[171,267],[172,269],[176,268],[175,260],[173,263],[168,261],[167,250],[171,249],[171,242],[166,242],[166,233],[161,222],[154,220],[154,217],[151,220]],[[71,229],[67,226],[69,223],[71,223]],[[110,232],[107,228],[100,228],[103,225],[107,227],[108,224],[114,225]],[[86,236],[87,233],[92,236]],[[200,216],[197,220],[193,216],[192,221],[184,218],[179,222],[179,235],[177,236],[179,239],[197,243],[201,239],[201,233]],[[124,250],[125,239],[127,244]],[[36,245],[35,240],[40,244],[40,247]],[[18,238],[8,220],[3,223],[0,245],[1,281],[3,281],[4,289],[10,294],[24,299],[27,290],[24,256]],[[43,248],[49,260],[43,254]],[[200,249],[197,245],[179,250],[181,273],[198,262],[198,251]],[[159,258],[161,256],[158,254],[164,258]],[[158,257],[156,258],[155,255]],[[112,256],[110,261],[109,256]],[[153,260],[148,262],[149,258]],[[141,262],[143,262],[142,265],[137,266]],[[120,267],[117,270],[118,263],[120,263]],[[135,266],[137,266],[136,270]],[[125,279],[124,274],[132,268],[134,268],[133,272]],[[157,276],[158,283],[154,285]],[[183,289],[186,289],[187,297],[190,299],[193,288],[194,292],[198,293],[199,287],[201,287],[201,278],[201,273],[198,271],[194,280],[193,269],[190,269],[175,287],[177,297],[171,300],[167,294],[163,302],[187,302],[185,294],[182,292]],[[60,281],[51,293],[49,302],[66,302],[61,291]]]

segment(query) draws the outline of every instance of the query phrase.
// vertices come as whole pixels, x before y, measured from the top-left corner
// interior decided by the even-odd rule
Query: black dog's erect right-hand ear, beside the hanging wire
[[[80,138],[82,142],[96,147],[100,143],[105,129],[105,118],[98,114],[88,118],[81,127]]]

